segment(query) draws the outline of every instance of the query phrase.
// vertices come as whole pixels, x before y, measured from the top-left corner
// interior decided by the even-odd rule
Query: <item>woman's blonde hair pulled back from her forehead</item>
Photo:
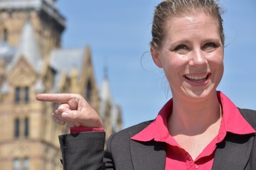
[[[223,30],[223,19],[221,14],[223,9],[215,0],[165,0],[162,1],[154,11],[152,23],[152,40],[151,47],[155,50],[161,48],[161,42],[164,39],[164,27],[167,19],[172,16],[182,16],[184,14],[193,13],[194,11],[204,11],[217,19],[219,25],[221,42],[225,43],[225,35]]]

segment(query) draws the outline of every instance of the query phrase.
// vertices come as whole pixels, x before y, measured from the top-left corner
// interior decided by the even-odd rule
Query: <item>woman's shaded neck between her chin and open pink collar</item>
[[[220,125],[221,108],[216,94],[201,101],[175,97],[173,100],[173,111],[168,120],[171,135],[198,135],[210,126]]]

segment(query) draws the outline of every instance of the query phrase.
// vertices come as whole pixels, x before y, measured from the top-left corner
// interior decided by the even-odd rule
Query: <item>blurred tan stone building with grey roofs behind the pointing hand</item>
[[[78,93],[100,114],[107,132],[122,129],[107,76],[98,87],[90,47],[61,48],[65,18],[55,0],[0,0],[0,169],[58,170],[55,103],[39,93]]]

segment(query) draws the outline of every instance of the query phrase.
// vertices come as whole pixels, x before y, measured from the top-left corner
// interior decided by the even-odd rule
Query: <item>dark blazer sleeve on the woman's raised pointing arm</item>
[[[64,170],[103,169],[105,132],[60,135]]]

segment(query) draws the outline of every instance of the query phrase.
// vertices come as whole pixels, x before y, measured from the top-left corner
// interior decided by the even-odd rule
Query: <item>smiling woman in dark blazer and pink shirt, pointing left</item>
[[[60,136],[64,169],[256,169],[256,112],[216,91],[224,69],[220,11],[214,0],[156,6],[151,56],[173,98],[155,120],[112,135],[105,152],[102,121],[82,96],[36,96],[61,103],[53,118],[73,127]]]

